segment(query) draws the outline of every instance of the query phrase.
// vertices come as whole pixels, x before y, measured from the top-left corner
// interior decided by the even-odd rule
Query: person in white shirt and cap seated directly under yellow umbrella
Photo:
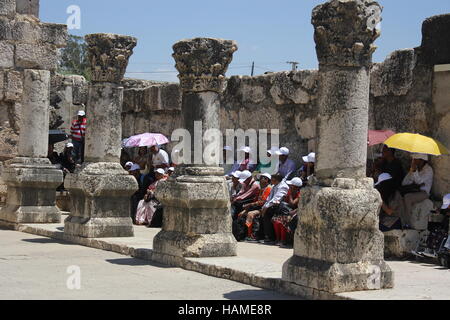
[[[411,168],[402,182],[405,204],[404,216],[402,217],[404,226],[411,225],[413,206],[430,197],[434,173],[428,161],[429,156],[426,154],[412,154]]]

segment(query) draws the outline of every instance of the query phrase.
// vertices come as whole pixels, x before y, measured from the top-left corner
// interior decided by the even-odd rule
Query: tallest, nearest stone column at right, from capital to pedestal
[[[316,7],[320,63],[316,184],[302,193],[294,256],[283,279],[331,293],[390,288],[378,229],[381,197],[365,176],[369,83],[381,7],[331,0]]]

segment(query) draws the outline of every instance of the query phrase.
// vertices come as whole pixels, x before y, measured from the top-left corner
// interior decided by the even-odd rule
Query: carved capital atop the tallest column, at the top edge
[[[363,67],[372,62],[382,7],[372,0],[330,0],[313,10],[320,65]]]

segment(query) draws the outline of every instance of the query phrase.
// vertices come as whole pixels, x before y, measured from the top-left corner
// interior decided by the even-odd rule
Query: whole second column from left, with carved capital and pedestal
[[[92,84],[87,103],[85,163],[66,178],[71,212],[64,233],[85,238],[132,237],[130,197],[136,179],[120,165],[121,80],[137,40],[114,34],[86,36]]]

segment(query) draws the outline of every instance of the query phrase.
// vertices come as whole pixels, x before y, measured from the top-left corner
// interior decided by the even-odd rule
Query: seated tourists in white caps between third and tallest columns
[[[231,147],[224,147],[224,159],[230,151]],[[235,162],[231,169],[224,165],[235,238],[292,247],[300,190],[314,175],[315,153],[305,155],[303,166],[297,169],[286,147],[267,150],[269,163],[250,161],[249,147],[239,151],[244,153],[240,163]]]

